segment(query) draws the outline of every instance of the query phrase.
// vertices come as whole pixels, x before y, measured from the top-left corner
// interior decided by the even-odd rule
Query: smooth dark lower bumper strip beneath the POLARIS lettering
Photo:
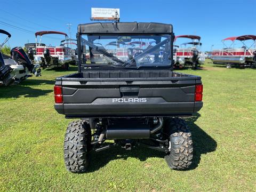
[[[64,103],[54,108],[67,118],[125,116],[190,116],[203,107],[203,102],[163,103]]]

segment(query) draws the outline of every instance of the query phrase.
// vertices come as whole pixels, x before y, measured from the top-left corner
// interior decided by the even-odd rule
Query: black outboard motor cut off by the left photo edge
[[[0,52],[0,85],[8,86],[15,81],[15,79],[10,76],[12,70],[9,65],[4,64],[3,55]]]

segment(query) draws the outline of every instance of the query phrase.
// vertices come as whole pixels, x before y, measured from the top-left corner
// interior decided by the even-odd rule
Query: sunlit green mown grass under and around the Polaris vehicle
[[[204,107],[188,119],[194,163],[170,170],[164,154],[112,148],[92,157],[89,172],[69,173],[63,138],[71,119],[53,107],[54,78],[73,71],[43,70],[20,85],[0,87],[0,191],[255,191],[256,70],[207,61]]]

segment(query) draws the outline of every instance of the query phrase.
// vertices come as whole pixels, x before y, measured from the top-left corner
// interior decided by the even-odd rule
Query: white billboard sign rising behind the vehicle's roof
[[[112,8],[92,8],[92,21],[119,21],[120,9]]]

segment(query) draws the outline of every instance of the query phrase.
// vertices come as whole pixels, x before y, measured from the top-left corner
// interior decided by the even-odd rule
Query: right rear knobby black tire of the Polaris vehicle
[[[185,170],[190,166],[193,158],[189,127],[183,119],[171,118],[167,129],[170,152],[165,156],[165,160],[171,169]]]

